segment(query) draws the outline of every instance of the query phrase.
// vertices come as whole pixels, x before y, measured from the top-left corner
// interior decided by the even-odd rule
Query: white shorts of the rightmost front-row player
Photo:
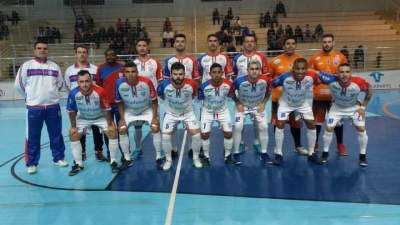
[[[342,119],[350,118],[355,126],[365,127],[365,116],[360,118],[357,112],[358,109],[360,109],[359,105],[343,108],[333,103],[326,119],[326,125],[335,127]]]

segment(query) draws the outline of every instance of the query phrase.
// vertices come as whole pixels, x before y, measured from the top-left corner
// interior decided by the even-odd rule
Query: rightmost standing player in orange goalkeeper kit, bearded
[[[322,36],[322,50],[316,53],[309,59],[309,67],[318,71],[337,74],[337,68],[341,63],[347,63],[346,57],[333,50],[334,36],[332,34],[324,34]],[[325,114],[331,105],[331,94],[329,87],[326,84],[319,84],[314,86],[314,100],[313,112],[317,122],[317,142],[316,149],[318,148],[318,137],[321,132],[322,124],[325,120]],[[343,145],[343,125],[335,127],[337,149],[341,156],[346,156],[347,151]]]

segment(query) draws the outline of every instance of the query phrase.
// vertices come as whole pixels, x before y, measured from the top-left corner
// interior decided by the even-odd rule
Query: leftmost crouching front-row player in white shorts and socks
[[[109,138],[111,171],[119,171],[117,164],[118,138],[117,129],[110,113],[111,106],[103,88],[93,84],[87,70],[78,72],[78,87],[68,95],[67,110],[71,122],[69,130],[72,156],[75,164],[69,172],[74,176],[83,170],[82,145],[80,139],[87,128],[95,125],[103,130]]]

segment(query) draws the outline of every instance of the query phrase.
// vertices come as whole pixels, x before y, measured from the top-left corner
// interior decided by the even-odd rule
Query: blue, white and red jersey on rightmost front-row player
[[[369,88],[369,83],[361,77],[350,77],[346,86],[339,83],[337,76],[328,73],[320,72],[319,79],[329,85],[334,104],[343,108],[357,105],[359,94],[367,92]]]

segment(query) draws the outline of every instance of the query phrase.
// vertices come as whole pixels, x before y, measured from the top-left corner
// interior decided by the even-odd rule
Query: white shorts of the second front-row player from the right
[[[288,120],[289,114],[291,112],[299,113],[301,117],[305,120],[314,120],[312,107],[307,102],[304,102],[304,104],[301,106],[293,107],[289,106],[284,101],[279,101],[278,113],[277,113],[278,120]]]

